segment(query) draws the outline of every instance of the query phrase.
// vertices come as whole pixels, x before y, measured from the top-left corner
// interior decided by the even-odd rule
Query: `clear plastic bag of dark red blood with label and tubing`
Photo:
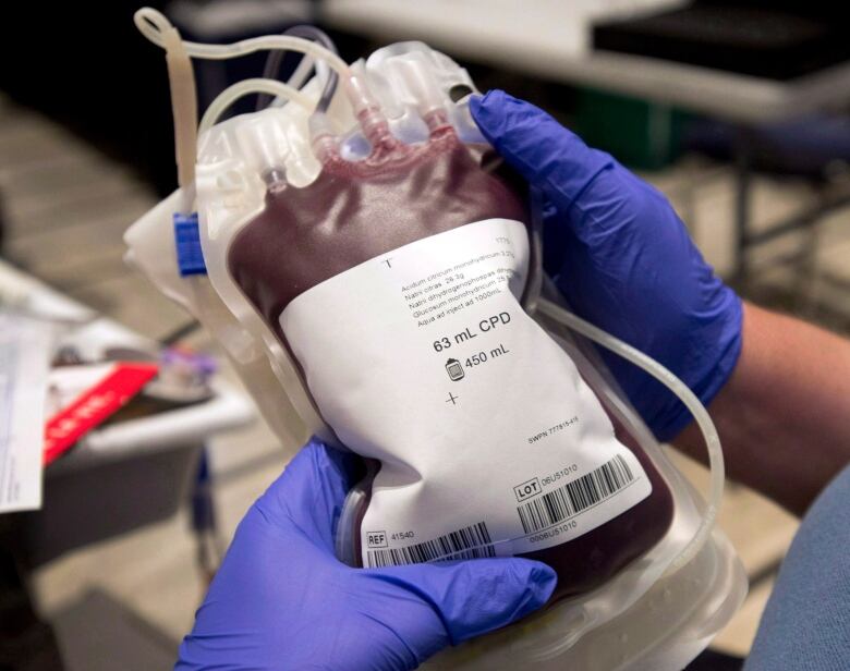
[[[146,21],[165,44],[161,17]],[[197,209],[208,272],[186,302],[223,315],[210,324],[229,351],[245,361],[251,351],[255,367],[265,354],[276,387],[266,404],[281,398],[311,431],[369,464],[338,525],[340,560],[517,556],[555,569],[556,594],[531,630],[520,623],[465,646],[472,657],[449,652],[435,664],[608,669],[654,655],[660,669],[707,645],[743,596],[740,565],[712,530],[722,486],[716,432],[681,382],[572,315],[543,277],[527,187],[484,142],[469,94],[458,97],[475,91],[466,72],[421,42],[352,66],[292,37],[171,51],[181,48],[198,58],[303,50],[339,75],[339,93],[324,72],[303,88],[260,80],[222,94],[202,121],[181,197]],[[257,90],[279,98],[216,123]],[[129,237],[153,235],[161,220],[143,219]],[[211,291],[198,293],[199,281]],[[694,410],[715,468],[708,507],[592,342]],[[654,600],[658,589],[675,595],[667,606]],[[645,615],[658,608],[669,618],[654,629]],[[695,623],[708,620],[706,636]],[[606,632],[617,632],[616,645]],[[670,632],[688,645],[672,652]]]

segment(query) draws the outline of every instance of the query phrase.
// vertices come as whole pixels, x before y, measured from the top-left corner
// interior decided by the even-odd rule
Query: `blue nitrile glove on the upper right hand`
[[[670,204],[541,109],[493,90],[470,109],[485,137],[544,196],[544,267],[575,313],[679,376],[708,404],[741,351],[741,301],[691,242]],[[691,420],[632,364],[603,351],[656,436]]]

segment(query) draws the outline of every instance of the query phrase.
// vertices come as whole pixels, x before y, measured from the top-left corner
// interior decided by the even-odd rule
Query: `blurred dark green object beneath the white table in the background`
[[[630,168],[658,170],[681,152],[688,119],[684,112],[665,105],[581,88],[574,131],[588,145],[610,152]]]

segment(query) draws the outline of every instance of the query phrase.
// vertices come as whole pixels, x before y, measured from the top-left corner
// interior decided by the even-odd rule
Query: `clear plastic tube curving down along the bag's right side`
[[[684,403],[685,407],[688,407],[696,420],[708,451],[708,465],[711,468],[708,500],[706,502],[703,520],[700,527],[696,529],[696,533],[693,535],[693,538],[691,538],[688,545],[682,549],[679,556],[673,559],[670,566],[667,569],[667,574],[676,573],[679,569],[687,565],[702,549],[703,545],[708,539],[708,536],[712,534],[720,508],[720,500],[724,495],[725,467],[724,453],[720,448],[720,437],[717,435],[714,422],[712,422],[708,412],[700,402],[700,399],[696,398],[696,394],[654,358],[646,356],[646,354],[634,349],[619,338],[615,338],[610,333],[603,331],[581,317],[576,317],[572,313],[549,301],[541,300],[537,304],[537,310],[547,317],[566,324],[575,332],[581,333],[585,338],[588,338],[593,342],[610,350],[639,368],[645,370],[675,393],[679,400]]]

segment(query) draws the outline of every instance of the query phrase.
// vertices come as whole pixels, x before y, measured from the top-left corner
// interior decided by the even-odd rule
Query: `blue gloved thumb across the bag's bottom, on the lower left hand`
[[[555,571],[546,564],[514,558],[393,566],[369,574],[388,589],[401,586],[430,606],[449,637],[439,647],[491,632],[537,610],[557,583]],[[394,626],[402,633],[404,622],[397,620]]]

